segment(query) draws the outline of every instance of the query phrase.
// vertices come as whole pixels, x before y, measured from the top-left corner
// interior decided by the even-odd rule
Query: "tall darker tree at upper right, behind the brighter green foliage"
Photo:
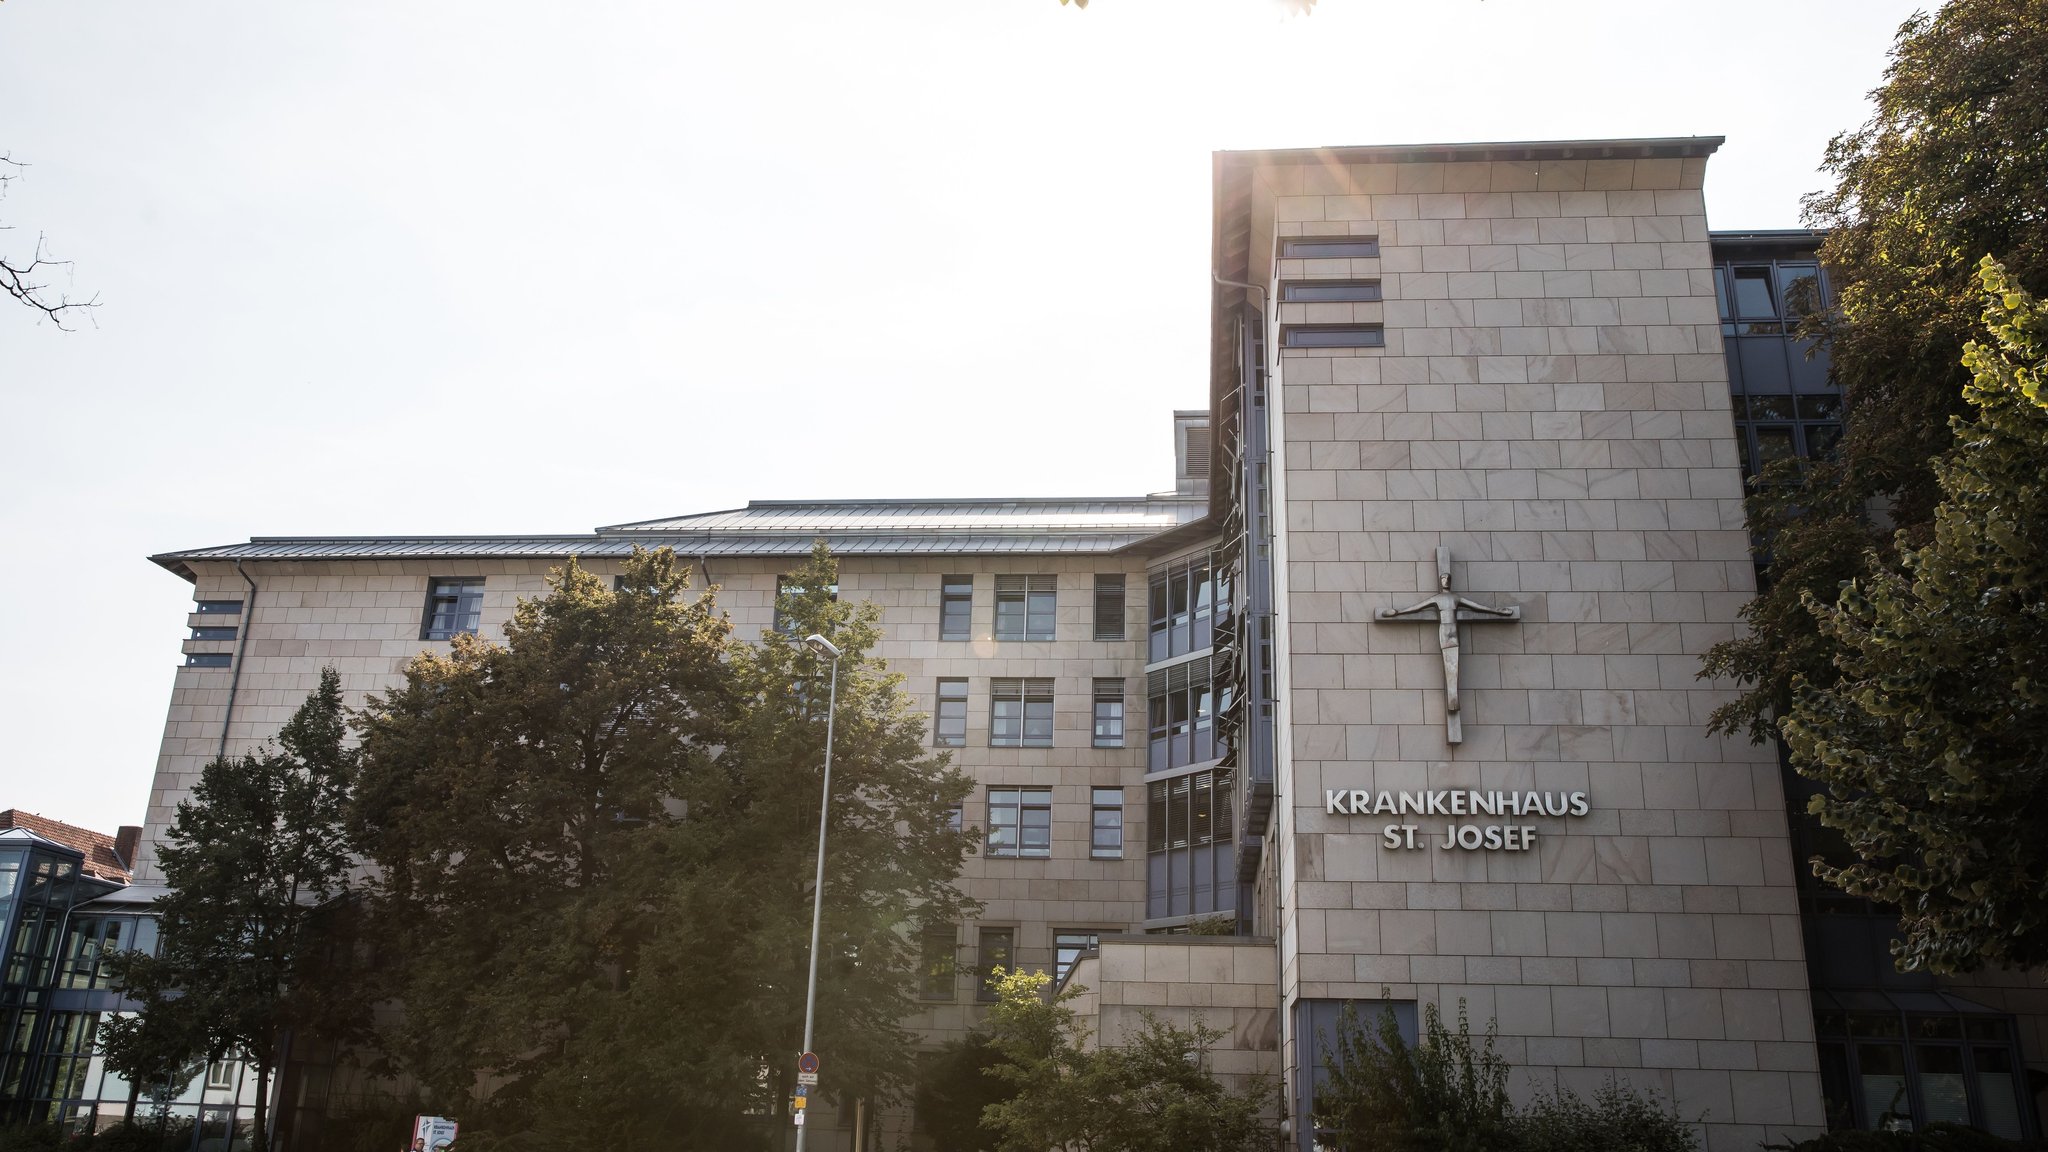
[[[1769,580],[1749,631],[1716,646],[1704,674],[1745,691],[1718,732],[1776,734],[1798,676],[1819,678],[1833,642],[1802,599],[1835,599],[1868,556],[1925,543],[1939,500],[1929,459],[1962,412],[1962,346],[1980,312],[1974,264],[1999,254],[2028,289],[2048,287],[2048,0],[1954,0],[1898,29],[1868,123],[1837,135],[1835,187],[1806,199],[1825,228],[1835,289],[1808,336],[1827,340],[1847,435],[1835,461],[1786,461],[1753,490],[1749,529]],[[1872,508],[1880,515],[1872,517]]]

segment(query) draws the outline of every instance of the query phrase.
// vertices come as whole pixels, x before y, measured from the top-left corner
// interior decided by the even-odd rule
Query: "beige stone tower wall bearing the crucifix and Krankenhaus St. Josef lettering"
[[[1458,1000],[1516,1088],[1622,1074],[1706,1113],[1710,1148],[1821,1125],[1769,748],[1708,738],[1700,654],[1753,592],[1716,328],[1704,158],[1270,164],[1257,273],[1380,303],[1278,303],[1276,851],[1282,1000]],[[1376,236],[1376,260],[1262,258]],[[1348,307],[1348,316],[1337,316]],[[1292,348],[1370,322],[1380,348]],[[1374,621],[1454,584],[1462,744],[1436,629]],[[1389,849],[1458,818],[1333,814],[1325,789],[1581,791],[1532,851]],[[1491,822],[1491,820],[1489,820]],[[1264,929],[1264,927],[1262,927]]]

